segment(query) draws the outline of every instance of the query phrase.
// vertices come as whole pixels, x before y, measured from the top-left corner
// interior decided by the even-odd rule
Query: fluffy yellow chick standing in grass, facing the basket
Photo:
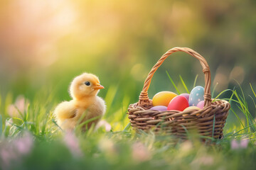
[[[100,89],[100,80],[94,74],[83,73],[73,79],[70,84],[71,101],[63,101],[55,108],[54,115],[58,125],[63,130],[73,130],[78,123],[102,117],[106,111],[105,101],[97,96]],[[83,115],[85,114],[85,115]],[[90,128],[92,123],[97,124],[100,118],[82,126],[82,130]]]

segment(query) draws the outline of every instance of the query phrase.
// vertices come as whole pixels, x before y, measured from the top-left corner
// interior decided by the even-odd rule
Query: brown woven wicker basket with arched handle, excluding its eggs
[[[161,66],[169,55],[180,51],[198,59],[203,67],[203,73],[205,74],[204,108],[199,111],[149,110],[153,106],[147,91],[156,69]],[[223,137],[223,128],[229,109],[230,103],[228,101],[217,100],[212,102],[210,95],[210,69],[206,60],[198,52],[190,48],[174,47],[167,51],[151,69],[139,95],[139,102],[129,105],[128,114],[134,130],[153,130],[156,133],[164,132],[180,138],[186,138],[189,130],[197,130],[199,135],[220,139]]]

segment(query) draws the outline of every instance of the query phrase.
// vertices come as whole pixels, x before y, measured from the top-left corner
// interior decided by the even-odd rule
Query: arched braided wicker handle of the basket
[[[149,90],[149,85],[151,83],[151,79],[156,72],[156,70],[161,66],[161,64],[166,60],[169,55],[171,55],[174,52],[186,52],[188,55],[192,55],[193,57],[197,58],[200,62],[200,64],[203,67],[203,73],[205,74],[205,91],[204,91],[204,106],[210,106],[211,103],[211,95],[210,95],[210,68],[208,63],[206,62],[206,59],[203,58],[203,56],[199,55],[198,52],[195,52],[194,50],[191,50],[187,47],[174,47],[171,50],[168,50],[164,55],[161,56],[158,62],[154,65],[154,67],[149,72],[148,76],[146,77],[146,80],[144,81],[144,86],[142,89],[141,94],[139,95],[139,106],[144,106],[145,104],[149,104],[149,96],[147,91]]]

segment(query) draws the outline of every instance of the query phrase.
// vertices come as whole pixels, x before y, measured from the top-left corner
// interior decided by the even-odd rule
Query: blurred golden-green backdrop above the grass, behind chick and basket
[[[1,1],[1,96],[69,100],[70,81],[91,72],[105,86],[100,96],[127,107],[138,101],[151,67],[176,46],[206,58],[212,90],[233,89],[235,79],[246,93],[256,83],[255,11],[253,0]],[[154,75],[149,98],[176,92],[166,71],[181,88],[179,74],[189,90],[196,74],[204,86],[199,62],[178,52]]]

